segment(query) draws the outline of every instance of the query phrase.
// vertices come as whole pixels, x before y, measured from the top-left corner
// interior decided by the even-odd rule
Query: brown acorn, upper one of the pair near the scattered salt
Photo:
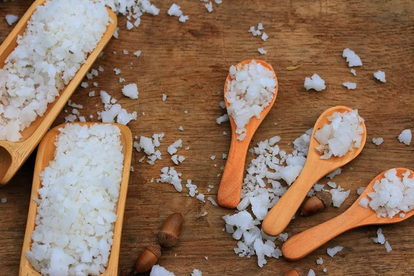
[[[177,244],[181,228],[183,228],[183,216],[180,213],[171,214],[167,217],[161,231],[158,233],[159,244],[166,247]]]

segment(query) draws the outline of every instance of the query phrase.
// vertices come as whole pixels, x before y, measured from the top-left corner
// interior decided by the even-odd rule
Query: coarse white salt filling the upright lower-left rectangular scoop
[[[25,254],[42,275],[100,275],[117,219],[121,130],[68,124],[59,131],[55,157],[40,175],[36,227]]]

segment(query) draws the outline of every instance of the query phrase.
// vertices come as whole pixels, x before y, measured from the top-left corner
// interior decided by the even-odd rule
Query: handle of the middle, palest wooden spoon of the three
[[[309,157],[308,157],[309,159]],[[270,209],[264,218],[262,229],[264,233],[277,236],[288,226],[292,217],[299,209],[302,201],[313,185],[326,173],[322,171],[322,166],[318,166],[317,161],[306,161],[306,164],[295,182],[288,188],[286,193],[277,201],[276,205]]]

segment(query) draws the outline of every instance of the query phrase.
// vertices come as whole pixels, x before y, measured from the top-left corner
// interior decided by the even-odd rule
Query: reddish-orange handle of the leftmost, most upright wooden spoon
[[[244,163],[248,150],[249,139],[239,141],[237,135],[232,135],[230,151],[228,152],[226,168],[217,194],[219,205],[226,208],[236,208],[242,195]]]

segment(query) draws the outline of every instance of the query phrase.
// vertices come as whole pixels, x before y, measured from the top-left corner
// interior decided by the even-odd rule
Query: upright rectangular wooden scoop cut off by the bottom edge
[[[79,124],[81,126],[87,125],[92,126],[97,123],[70,123],[70,124]],[[98,123],[102,124],[102,123]],[[108,266],[106,270],[101,275],[118,275],[118,260],[119,260],[119,246],[121,245],[121,231],[122,231],[122,221],[124,219],[124,210],[126,203],[126,193],[128,191],[128,181],[130,175],[130,166],[132,158],[132,133],[128,126],[113,124],[121,130],[121,145],[122,145],[122,154],[124,154],[124,170],[122,172],[121,188],[119,190],[119,199],[117,207],[117,220],[115,221],[114,227],[114,237],[113,243],[110,250],[110,256],[108,261]],[[52,128],[45,137],[41,140],[39,144],[39,149],[37,150],[36,164],[34,165],[34,177],[32,185],[32,194],[30,195],[30,205],[28,213],[28,222],[26,224],[26,233],[23,239],[23,250],[21,252],[21,261],[19,268],[19,275],[21,276],[40,276],[36,270],[32,267],[29,260],[26,258],[26,251],[30,250],[30,245],[32,244],[32,233],[34,227],[36,226],[36,215],[37,215],[37,203],[32,200],[33,198],[39,198],[39,193],[37,190],[41,188],[40,173],[49,166],[49,162],[55,158],[55,139],[56,135],[59,135],[59,128],[63,128],[65,124]]]

